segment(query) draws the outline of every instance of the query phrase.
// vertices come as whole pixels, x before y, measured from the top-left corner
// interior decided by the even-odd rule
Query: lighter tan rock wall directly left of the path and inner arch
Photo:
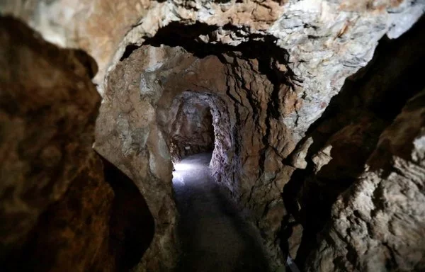
[[[154,108],[154,102],[161,95],[157,93],[159,81],[140,84],[147,78],[141,78],[136,65],[130,66],[133,59],[140,67],[152,61],[143,55],[131,55],[118,64],[109,77],[96,122],[95,149],[134,181],[154,217],[154,239],[136,269],[169,271],[176,264],[179,250],[171,156],[166,138],[156,123]],[[145,88],[143,93],[141,86]]]

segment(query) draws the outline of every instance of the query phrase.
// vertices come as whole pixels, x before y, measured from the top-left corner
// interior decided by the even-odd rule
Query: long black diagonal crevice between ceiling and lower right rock
[[[373,60],[346,79],[341,92],[331,99],[322,117],[299,143],[301,146],[308,137],[313,139],[307,152],[307,168],[293,173],[282,196],[285,207],[304,228],[295,259],[301,270],[323,239],[319,233],[329,222],[336,198],[364,171],[380,134],[407,100],[424,89],[424,27],[423,17],[400,38],[382,38]],[[331,160],[318,171],[312,156],[328,145],[332,146]],[[290,164],[290,159],[285,163]],[[289,217],[283,219],[283,241],[290,237],[291,224]],[[288,251],[287,243],[281,246]]]

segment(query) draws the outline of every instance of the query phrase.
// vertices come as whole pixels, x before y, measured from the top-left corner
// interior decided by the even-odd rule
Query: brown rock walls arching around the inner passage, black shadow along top
[[[260,230],[268,262],[276,268],[283,263],[276,241],[285,212],[280,166],[293,147],[283,118],[299,107],[293,88],[297,79],[288,68],[287,52],[271,36],[237,46],[197,40],[217,31],[222,30],[170,23],[140,47],[128,47],[108,76],[95,148],[125,169],[142,191],[156,222],[152,246],[160,250],[159,234],[174,239],[176,224],[171,157],[191,147],[190,138],[178,132],[190,127],[183,124],[187,113],[210,108],[212,176]],[[199,150],[210,149],[210,140],[202,141]]]

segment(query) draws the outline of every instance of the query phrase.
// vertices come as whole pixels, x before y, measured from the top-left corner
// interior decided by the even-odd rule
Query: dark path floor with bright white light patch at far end
[[[212,179],[210,159],[191,155],[173,172],[183,249],[177,271],[268,271],[259,234]]]

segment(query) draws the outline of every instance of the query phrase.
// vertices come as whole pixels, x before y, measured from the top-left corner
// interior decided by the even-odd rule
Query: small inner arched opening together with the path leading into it
[[[225,113],[214,98],[183,91],[171,103],[169,148],[183,251],[176,271],[268,271],[259,235],[212,176],[212,149],[222,147],[220,121],[229,120],[220,119]]]

